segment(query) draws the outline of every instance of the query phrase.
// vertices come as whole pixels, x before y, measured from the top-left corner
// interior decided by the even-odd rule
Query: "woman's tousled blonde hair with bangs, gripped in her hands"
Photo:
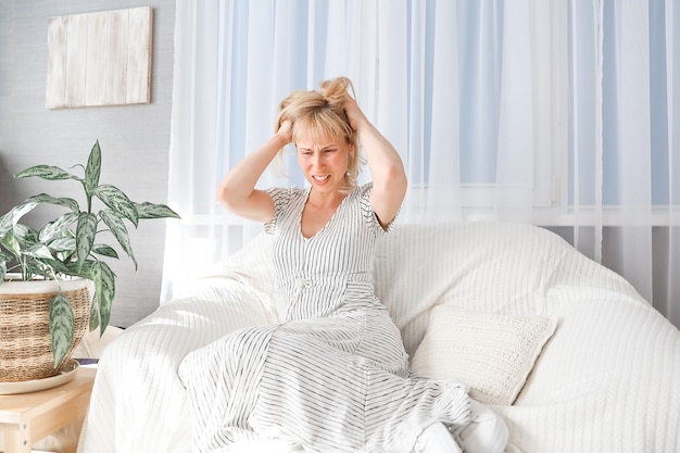
[[[361,166],[358,135],[352,129],[344,112],[348,95],[354,96],[354,87],[347,77],[322,81],[319,91],[293,91],[281,101],[276,122],[276,130],[284,122],[291,122],[293,142],[302,138],[319,142],[344,139],[354,148],[354,152],[349,155],[342,192],[350,192],[356,187]]]

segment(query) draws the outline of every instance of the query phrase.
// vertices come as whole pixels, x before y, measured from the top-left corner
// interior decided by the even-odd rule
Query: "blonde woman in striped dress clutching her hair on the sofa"
[[[374,293],[374,246],[400,210],[406,176],[348,89],[341,77],[291,93],[276,134],[217,189],[228,210],[275,235],[280,324],[239,330],[182,362],[194,445],[268,438],[325,453],[459,452],[455,435],[492,431],[500,450],[482,451],[502,451],[504,425],[487,412],[491,423],[473,427],[464,385],[408,373],[399,329]],[[360,137],[373,183],[357,187]],[[290,142],[308,187],[255,189]]]

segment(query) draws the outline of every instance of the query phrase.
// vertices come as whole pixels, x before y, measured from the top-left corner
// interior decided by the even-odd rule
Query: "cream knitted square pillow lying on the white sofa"
[[[428,377],[458,379],[482,403],[511,405],[556,327],[554,317],[437,305],[412,369]]]

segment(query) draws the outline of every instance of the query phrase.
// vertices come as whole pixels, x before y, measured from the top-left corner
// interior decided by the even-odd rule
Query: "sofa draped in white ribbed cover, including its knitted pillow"
[[[104,350],[78,452],[191,451],[178,369],[235,329],[277,322],[269,251],[256,237]],[[680,332],[557,235],[398,225],[378,247],[375,284],[414,370],[459,378],[491,404],[507,453],[680,451]]]

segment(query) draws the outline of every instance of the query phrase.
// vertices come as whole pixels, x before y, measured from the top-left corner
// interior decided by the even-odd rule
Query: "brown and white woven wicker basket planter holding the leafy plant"
[[[51,280],[4,281],[0,285],[0,382],[43,379],[59,374],[85,335],[90,316],[89,280],[60,281],[75,318],[73,343],[54,367],[49,327],[50,301],[58,293]]]

